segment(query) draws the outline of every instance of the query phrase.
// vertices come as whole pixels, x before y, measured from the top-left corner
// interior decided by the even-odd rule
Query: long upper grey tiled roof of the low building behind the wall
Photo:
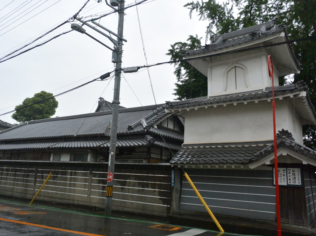
[[[158,108],[157,108],[158,106]],[[149,127],[163,118],[165,108],[162,104],[136,108],[119,109],[118,138],[120,135],[145,133],[141,121],[145,119]],[[0,133],[0,142],[17,139],[51,139],[61,137],[104,136],[112,119],[112,111],[91,114],[28,121]],[[132,128],[129,128],[132,127]],[[153,128],[151,128],[152,130]],[[153,131],[154,132],[154,131]],[[166,133],[167,137],[179,139],[177,132]],[[164,133],[162,133],[164,135]]]

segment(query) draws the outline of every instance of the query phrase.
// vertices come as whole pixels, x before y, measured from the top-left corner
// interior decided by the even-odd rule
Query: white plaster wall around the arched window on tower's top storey
[[[210,64],[208,67],[208,96],[213,96],[216,93],[227,94],[232,92],[251,91],[256,89],[264,89],[267,86],[271,86],[269,74],[268,74],[268,57],[266,55],[260,55],[253,58],[247,58],[244,60],[236,61],[237,65],[241,64],[246,68],[248,88],[235,90],[235,91],[223,91],[223,86],[226,82],[224,76],[226,69],[234,64],[233,61],[222,64]],[[278,86],[278,73],[276,68],[274,69],[274,85]]]

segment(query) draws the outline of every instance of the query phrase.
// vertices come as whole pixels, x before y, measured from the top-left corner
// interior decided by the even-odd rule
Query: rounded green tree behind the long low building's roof
[[[20,123],[50,118],[52,115],[55,115],[56,108],[58,107],[56,98],[52,96],[52,93],[41,91],[35,93],[33,97],[25,98],[22,104],[15,106],[15,110],[17,111],[11,117]],[[47,100],[40,102],[44,99]],[[36,104],[22,108],[33,103]]]

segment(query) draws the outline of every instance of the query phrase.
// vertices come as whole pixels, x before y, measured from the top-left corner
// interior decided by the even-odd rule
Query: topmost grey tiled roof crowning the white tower
[[[252,27],[243,28],[234,32],[213,36],[213,42],[206,44],[204,48],[197,50],[185,50],[182,56],[199,55],[210,51],[216,51],[238,44],[245,44],[258,40],[268,35],[285,32],[285,26],[276,25],[277,19]]]

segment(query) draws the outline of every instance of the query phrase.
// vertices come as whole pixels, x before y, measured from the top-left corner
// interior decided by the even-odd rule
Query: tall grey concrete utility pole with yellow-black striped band
[[[111,121],[111,139],[110,139],[110,153],[109,166],[107,169],[107,184],[106,184],[106,199],[105,199],[105,215],[111,215],[112,206],[112,192],[114,182],[114,165],[115,165],[115,150],[116,150],[116,136],[119,115],[119,90],[121,83],[121,66],[122,66],[122,44],[123,44],[123,24],[124,24],[124,0],[119,0],[119,26],[118,26],[118,46],[117,50],[112,53],[112,62],[115,66],[115,82],[114,95],[112,102],[112,121]]]

